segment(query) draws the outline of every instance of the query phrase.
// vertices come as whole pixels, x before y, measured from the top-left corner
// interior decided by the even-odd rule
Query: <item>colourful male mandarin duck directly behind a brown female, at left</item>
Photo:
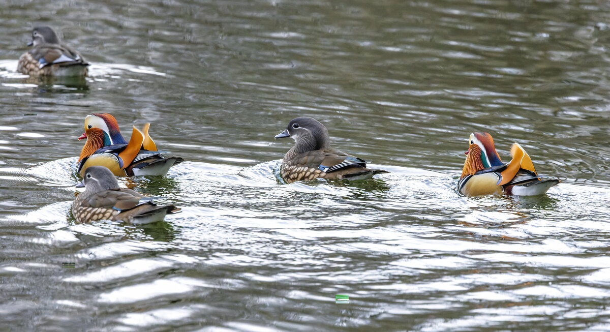
[[[117,120],[110,114],[93,113],[85,117],[87,139],[79,158],[77,171],[84,177],[90,166],[105,166],[117,176],[167,175],[173,165],[184,161],[181,157],[165,157],[148,135],[149,123],[143,131],[134,127],[129,143],[123,139]]]

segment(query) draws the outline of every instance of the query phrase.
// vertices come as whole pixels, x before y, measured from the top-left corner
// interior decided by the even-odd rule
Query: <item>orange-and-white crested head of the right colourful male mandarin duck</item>
[[[493,145],[492,135],[487,132],[473,132],[470,134],[469,144],[461,178],[474,175],[488,167],[503,165]]]

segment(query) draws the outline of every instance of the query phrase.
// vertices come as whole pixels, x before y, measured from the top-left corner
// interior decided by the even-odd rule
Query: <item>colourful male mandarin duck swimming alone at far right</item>
[[[466,156],[458,183],[459,191],[466,196],[542,195],[559,183],[558,179],[540,179],[529,155],[517,143],[511,148],[512,160],[504,164],[487,132],[470,134]]]

